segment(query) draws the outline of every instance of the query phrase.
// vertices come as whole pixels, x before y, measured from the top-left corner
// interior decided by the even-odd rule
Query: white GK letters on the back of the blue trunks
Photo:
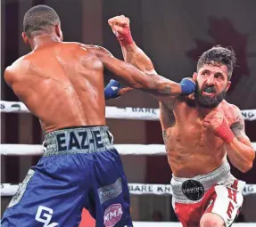
[[[59,223],[50,223],[54,215],[54,210],[49,207],[39,206],[35,219],[39,223],[45,223],[43,227],[54,227]]]

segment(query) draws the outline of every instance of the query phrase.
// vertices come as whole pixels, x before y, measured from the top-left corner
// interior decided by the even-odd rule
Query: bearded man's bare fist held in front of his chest
[[[225,119],[222,113],[218,111],[211,111],[208,115],[205,116],[205,118],[203,118],[202,125],[215,132],[216,129],[222,125],[224,120]]]

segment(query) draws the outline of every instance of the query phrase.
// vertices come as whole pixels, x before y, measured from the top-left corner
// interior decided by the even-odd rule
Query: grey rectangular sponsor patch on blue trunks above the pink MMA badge
[[[103,204],[103,202],[107,200],[118,197],[121,192],[122,192],[121,178],[119,178],[116,182],[112,183],[111,185],[107,185],[99,188],[98,193],[99,193],[101,204]]]

